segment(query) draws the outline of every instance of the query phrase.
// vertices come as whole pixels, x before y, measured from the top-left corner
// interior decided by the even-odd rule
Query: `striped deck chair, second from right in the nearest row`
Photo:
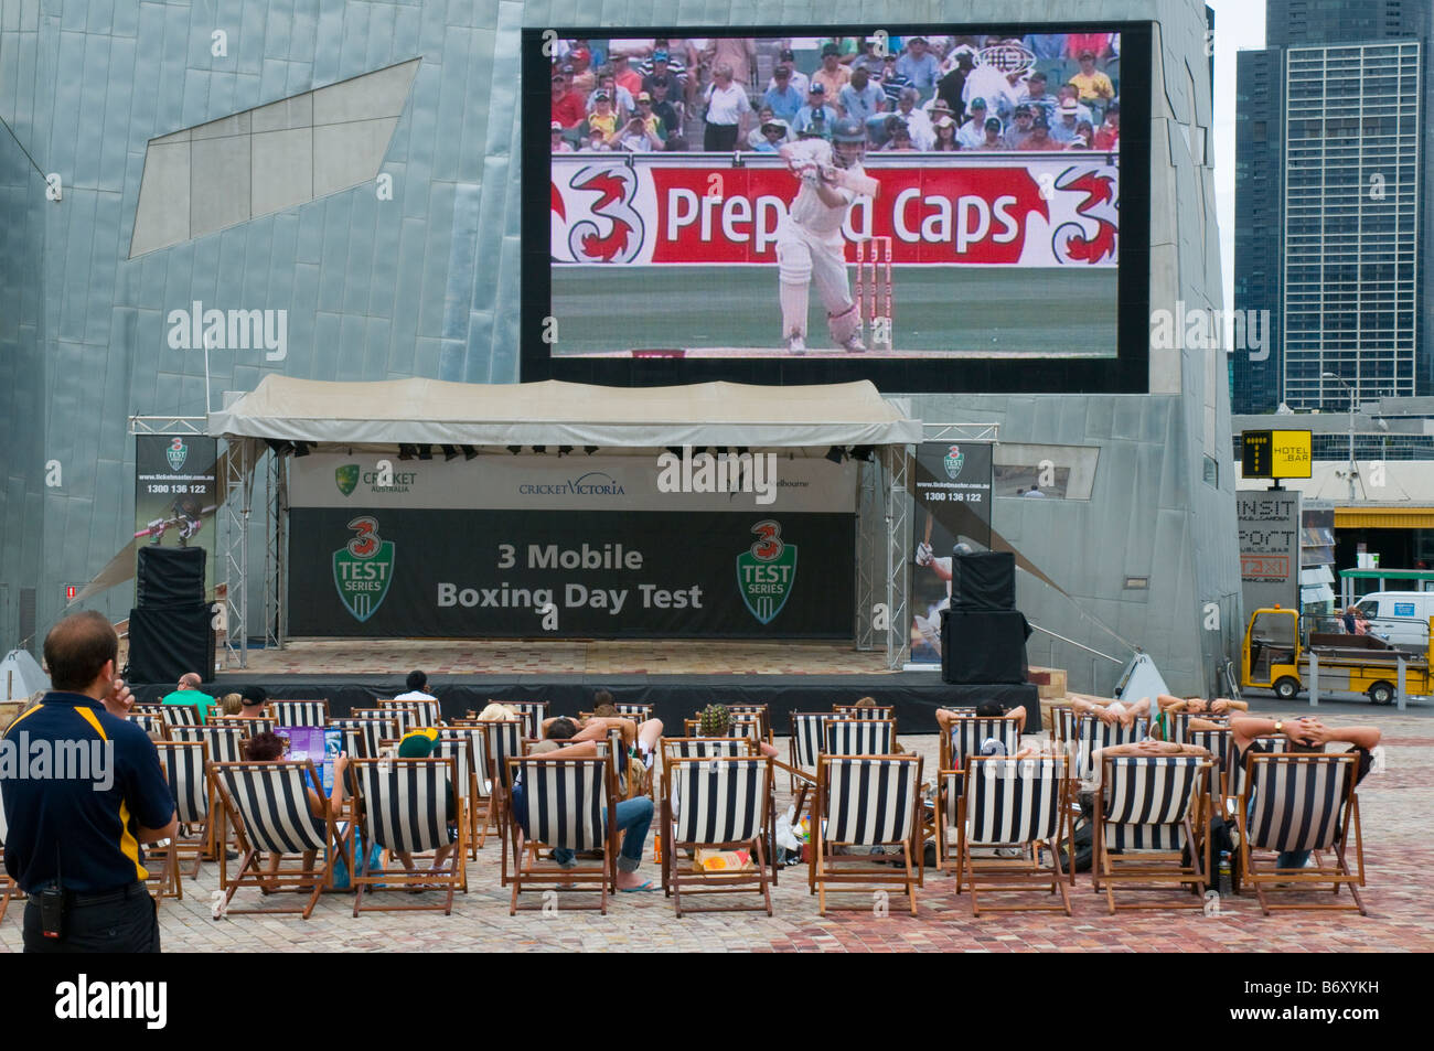
[[[1117,909],[1203,909],[1210,843],[1205,834],[1213,764],[1197,756],[1106,756],[1096,793],[1091,865],[1096,892]],[[1197,834],[1199,833],[1199,834]],[[1139,889],[1190,885],[1200,896],[1117,905],[1116,883]]]

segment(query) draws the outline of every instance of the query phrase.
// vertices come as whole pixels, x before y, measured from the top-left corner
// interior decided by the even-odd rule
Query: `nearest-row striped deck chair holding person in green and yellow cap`
[[[439,756],[437,751],[447,751]],[[435,756],[427,758],[357,758],[350,770],[354,776],[354,802],[363,842],[381,846],[394,855],[407,855],[416,867],[389,867],[384,872],[369,869],[369,850],[363,863],[351,876],[354,886],[354,912],[437,912],[453,915],[453,892],[467,890],[466,819],[463,797],[459,794],[457,754],[467,753],[466,741],[439,740]],[[449,836],[447,802],[453,800],[453,823],[457,839]],[[445,870],[424,867],[423,855],[453,845]],[[377,885],[393,890],[446,890],[442,902],[407,905],[369,905],[364,908],[364,890]]]

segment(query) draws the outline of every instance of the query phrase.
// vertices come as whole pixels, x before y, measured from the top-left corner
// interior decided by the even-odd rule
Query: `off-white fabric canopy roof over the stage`
[[[328,444],[889,446],[921,442],[872,383],[328,383],[267,376],[209,414],[209,433]]]

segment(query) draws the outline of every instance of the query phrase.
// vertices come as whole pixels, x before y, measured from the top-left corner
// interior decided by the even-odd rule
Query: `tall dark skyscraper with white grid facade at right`
[[[1238,63],[1233,305],[1269,310],[1275,346],[1233,351],[1232,409],[1430,393],[1430,3],[1266,17],[1269,46]]]

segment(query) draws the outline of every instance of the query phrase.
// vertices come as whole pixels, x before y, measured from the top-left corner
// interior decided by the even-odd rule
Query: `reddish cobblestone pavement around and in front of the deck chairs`
[[[1293,711],[1293,710],[1292,710]],[[1078,878],[1073,895],[1076,915],[1007,913],[971,916],[969,900],[952,892],[952,879],[928,872],[918,892],[919,915],[903,915],[903,900],[892,898],[888,916],[875,915],[870,893],[836,899],[856,912],[817,915],[807,895],[804,869],[782,873],[773,893],[774,916],[757,913],[690,915],[677,919],[671,900],[657,893],[618,895],[608,915],[543,912],[508,916],[508,896],[498,886],[498,846],[490,839],[469,866],[467,895],[457,895],[452,916],[442,913],[364,913],[350,916],[347,895],[326,895],[307,922],[294,916],[232,916],[214,921],[209,895],[218,869],[205,865],[196,882],[185,880],[184,902],[165,900],[161,928],[166,951],[194,952],[374,952],[479,951],[571,952],[691,951],[691,952],[1411,952],[1434,951],[1434,909],[1428,873],[1434,870],[1430,814],[1434,813],[1434,726],[1425,715],[1377,711],[1321,711],[1331,723],[1378,723],[1385,733],[1385,770],[1371,774],[1359,790],[1365,836],[1369,916],[1358,913],[1276,913],[1260,916],[1252,895],[1226,898],[1220,915],[1200,909],[1152,910],[1107,916],[1103,896]],[[903,744],[935,761],[935,737],[908,737]],[[784,741],[779,741],[784,748]],[[786,806],[786,779],[779,779]],[[642,870],[655,876],[648,839]],[[400,903],[419,900],[387,895]],[[432,900],[424,896],[423,900]],[[536,899],[536,895],[535,895]],[[1311,895],[1328,900],[1329,893]],[[241,903],[261,900],[241,892]],[[1172,900],[1176,900],[1172,895]],[[1183,899],[1192,900],[1192,899]],[[0,922],[0,949],[20,949],[23,903],[11,903]]]

